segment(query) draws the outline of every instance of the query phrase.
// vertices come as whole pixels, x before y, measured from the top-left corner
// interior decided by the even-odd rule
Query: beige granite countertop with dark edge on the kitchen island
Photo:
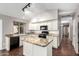
[[[30,36],[26,36],[23,41],[34,45],[38,45],[41,47],[46,47],[53,41],[53,39],[44,39],[44,38],[39,38],[37,36],[30,35]]]

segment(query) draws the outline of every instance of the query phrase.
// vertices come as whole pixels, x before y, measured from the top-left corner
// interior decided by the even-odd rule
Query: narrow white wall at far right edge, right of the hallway
[[[78,54],[78,22],[79,22],[79,9],[76,10],[75,16],[73,18],[73,41],[75,52]]]

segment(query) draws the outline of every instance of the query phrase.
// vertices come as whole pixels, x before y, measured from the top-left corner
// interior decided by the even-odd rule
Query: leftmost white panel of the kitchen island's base
[[[32,56],[32,44],[23,42],[23,55]]]

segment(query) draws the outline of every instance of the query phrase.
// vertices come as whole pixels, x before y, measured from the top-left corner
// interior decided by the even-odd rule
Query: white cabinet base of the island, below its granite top
[[[23,42],[23,55],[25,56],[52,56],[52,44],[46,47]]]

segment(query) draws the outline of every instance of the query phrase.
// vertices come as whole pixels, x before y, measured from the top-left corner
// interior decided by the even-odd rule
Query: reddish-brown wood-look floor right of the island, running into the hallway
[[[76,56],[74,47],[67,38],[63,38],[59,48],[53,50],[54,56]]]

